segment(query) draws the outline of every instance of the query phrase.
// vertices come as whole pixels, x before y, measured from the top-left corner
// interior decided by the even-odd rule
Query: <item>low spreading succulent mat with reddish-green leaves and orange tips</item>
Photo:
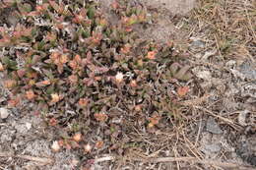
[[[124,154],[140,144],[132,142],[133,129],[155,134],[166,131],[162,120],[168,129],[184,121],[178,100],[188,86],[178,88],[173,80],[186,82],[192,75],[177,63],[173,43],[136,34],[134,26],[153,20],[143,6],[114,1],[117,25],[93,1],[4,1],[2,6],[19,14],[15,27],[0,28],[8,102],[33,103],[32,113],[61,131],[53,151]]]

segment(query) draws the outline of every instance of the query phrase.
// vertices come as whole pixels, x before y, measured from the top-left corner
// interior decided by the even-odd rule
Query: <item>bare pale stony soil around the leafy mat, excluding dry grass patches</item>
[[[109,21],[114,24],[115,16],[108,9],[111,1],[100,3],[108,14]],[[184,108],[193,112],[191,119],[194,121],[190,127],[186,127],[187,136],[182,144],[186,149],[191,149],[198,159],[211,160],[212,163],[136,161],[118,167],[114,162],[105,161],[93,163],[91,169],[256,168],[255,51],[251,53],[251,58],[224,59],[218,49],[209,46],[212,40],[209,39],[208,28],[201,30],[194,27],[197,25],[196,20],[190,20],[191,10],[198,5],[195,0],[142,0],[134,3],[146,5],[149,13],[158,18],[148,28],[135,28],[141,37],[157,41],[171,40],[177,44],[178,50],[189,54],[186,62],[191,65],[195,81],[188,84],[194,87],[194,93],[191,94],[192,99],[184,102]],[[8,16],[9,13],[10,11],[3,10],[1,16]],[[0,25],[12,27],[16,24],[15,21],[16,19],[1,17]],[[184,28],[185,25],[187,28]],[[0,53],[3,54],[4,52]],[[3,86],[0,90],[0,107],[7,108],[8,90]],[[26,110],[33,107],[32,103],[24,104]],[[7,109],[10,115],[6,119],[0,119],[1,169],[68,170],[78,169],[77,165],[88,163],[89,160],[85,160],[74,150],[53,152],[50,146],[57,140],[55,134],[58,132],[46,126],[39,115],[32,115],[20,108]],[[176,155],[178,150],[171,150],[173,148],[175,147],[163,148],[159,155],[181,156]],[[170,153],[172,151],[174,153]]]

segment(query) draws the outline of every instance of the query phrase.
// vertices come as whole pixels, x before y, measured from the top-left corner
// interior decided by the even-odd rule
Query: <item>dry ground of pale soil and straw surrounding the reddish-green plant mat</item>
[[[145,3],[134,1],[138,2]],[[111,1],[101,3],[114,22],[108,11]],[[188,54],[185,62],[194,74],[186,84],[191,89],[189,97],[182,103],[188,123],[173,125],[168,134],[130,134],[135,142],[143,143],[141,147],[128,150],[118,160],[98,154],[90,163],[73,150],[54,153],[50,145],[59,132],[45,126],[38,115],[8,109],[7,118],[0,119],[1,169],[68,170],[82,164],[96,170],[256,167],[255,1],[152,0],[145,5],[158,22],[137,28],[141,36],[171,39],[178,50]],[[0,25],[14,23],[10,17],[0,18]],[[1,87],[0,92],[1,107],[5,108],[8,91]]]

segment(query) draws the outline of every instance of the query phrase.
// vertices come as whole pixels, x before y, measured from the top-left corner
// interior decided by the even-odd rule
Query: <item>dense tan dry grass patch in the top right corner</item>
[[[202,0],[200,9],[195,10],[190,18],[194,25],[190,35],[203,32],[208,47],[218,49],[223,58],[248,58],[254,61],[255,8],[253,0]]]

